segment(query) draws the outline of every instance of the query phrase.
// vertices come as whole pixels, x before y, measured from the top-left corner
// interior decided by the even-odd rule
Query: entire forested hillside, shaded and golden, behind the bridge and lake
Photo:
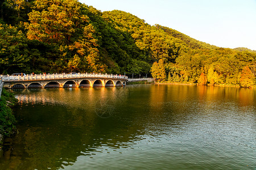
[[[76,71],[255,84],[255,51],[218,48],[123,11],[75,0],[4,0],[0,23],[0,74]]]

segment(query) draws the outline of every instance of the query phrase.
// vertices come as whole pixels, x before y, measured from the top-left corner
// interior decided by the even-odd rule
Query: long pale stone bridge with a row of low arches
[[[113,74],[38,74],[2,76],[5,88],[61,88],[126,86],[127,76]]]

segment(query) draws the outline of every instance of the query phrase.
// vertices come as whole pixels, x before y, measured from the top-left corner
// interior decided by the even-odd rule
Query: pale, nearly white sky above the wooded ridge
[[[224,48],[256,50],[256,0],[79,0],[97,10],[121,10]]]

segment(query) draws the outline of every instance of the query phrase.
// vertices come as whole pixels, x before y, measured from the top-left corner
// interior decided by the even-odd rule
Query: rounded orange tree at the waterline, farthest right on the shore
[[[243,67],[241,77],[240,77],[240,86],[241,87],[251,87],[254,84],[254,75],[251,72],[249,66]]]

